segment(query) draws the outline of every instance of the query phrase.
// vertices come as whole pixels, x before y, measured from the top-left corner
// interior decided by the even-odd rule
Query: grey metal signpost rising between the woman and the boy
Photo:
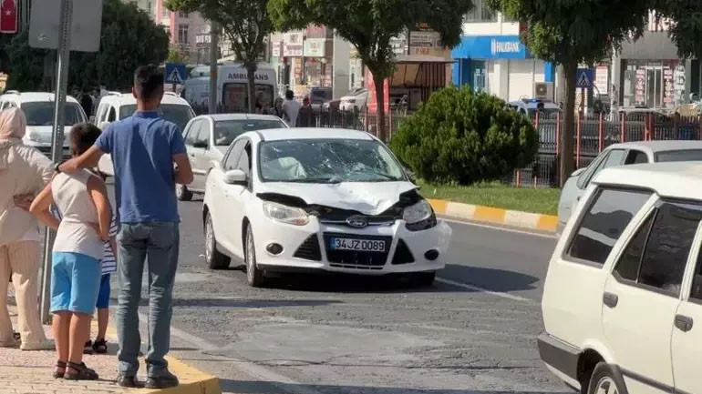
[[[66,90],[68,85],[68,60],[70,54],[71,18],[73,16],[73,0],[61,0],[61,27],[58,35],[56,105],[54,106],[54,132],[51,138],[51,159],[57,164],[63,159],[64,117],[66,106]],[[44,324],[51,321],[49,307],[51,305],[51,252],[54,248],[56,231],[46,227],[44,269],[42,270],[41,319]]]

